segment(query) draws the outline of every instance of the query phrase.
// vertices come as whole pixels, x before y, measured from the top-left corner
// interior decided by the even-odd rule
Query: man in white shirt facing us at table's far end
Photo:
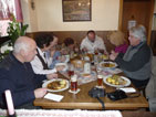
[[[106,53],[103,39],[97,36],[92,30],[89,31],[86,38],[82,40],[81,50],[89,53],[94,53],[95,51]]]

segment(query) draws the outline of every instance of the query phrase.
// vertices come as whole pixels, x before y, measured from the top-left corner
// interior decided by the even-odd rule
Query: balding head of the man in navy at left
[[[13,54],[21,62],[31,62],[37,54],[37,44],[28,36],[20,36],[14,43]]]

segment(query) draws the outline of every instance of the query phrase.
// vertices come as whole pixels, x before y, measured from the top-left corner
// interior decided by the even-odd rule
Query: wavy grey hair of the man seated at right
[[[135,38],[138,38],[142,42],[146,41],[146,29],[144,25],[139,24],[137,26],[133,26],[129,32]]]

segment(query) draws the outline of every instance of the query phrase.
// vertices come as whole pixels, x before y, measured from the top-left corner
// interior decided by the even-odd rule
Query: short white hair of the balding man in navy
[[[25,41],[17,40],[14,43],[13,52],[20,53],[21,50],[23,50],[24,52],[28,52],[30,47],[31,47],[30,44],[28,44]]]

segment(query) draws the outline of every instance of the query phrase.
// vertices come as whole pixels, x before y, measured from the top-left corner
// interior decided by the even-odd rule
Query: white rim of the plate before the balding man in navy
[[[48,87],[48,84],[49,83],[52,83],[52,82],[54,82],[54,81],[62,81],[62,78],[56,78],[56,79],[50,79],[50,81],[48,81],[48,82],[44,82],[43,84],[42,84],[42,87]],[[69,88],[69,81],[66,81],[66,79],[63,79],[63,81],[65,81],[66,82],[66,86],[64,87],[64,88],[62,88],[62,89],[48,89],[49,92],[62,92],[62,91],[65,91],[65,89],[67,89]]]

